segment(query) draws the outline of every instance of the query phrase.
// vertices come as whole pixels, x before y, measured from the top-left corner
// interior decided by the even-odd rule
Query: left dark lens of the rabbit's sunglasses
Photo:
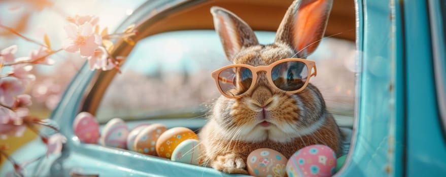
[[[252,72],[245,67],[227,68],[218,75],[218,85],[226,95],[237,96],[248,91],[252,83]]]

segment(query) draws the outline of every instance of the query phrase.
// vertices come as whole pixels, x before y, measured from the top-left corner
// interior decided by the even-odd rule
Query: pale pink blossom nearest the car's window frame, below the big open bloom
[[[113,60],[108,58],[106,50],[102,47],[99,47],[99,49],[94,51],[93,56],[88,57],[87,59],[91,70],[102,69],[106,71],[115,67]]]

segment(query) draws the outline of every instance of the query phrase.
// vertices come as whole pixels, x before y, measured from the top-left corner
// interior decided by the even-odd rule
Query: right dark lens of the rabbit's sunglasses
[[[297,91],[305,84],[308,77],[308,69],[303,62],[284,62],[272,68],[271,77],[279,89]]]

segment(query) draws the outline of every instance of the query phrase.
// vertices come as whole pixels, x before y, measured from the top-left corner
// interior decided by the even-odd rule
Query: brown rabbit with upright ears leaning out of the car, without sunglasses
[[[227,59],[234,64],[260,66],[315,51],[331,6],[332,0],[294,1],[270,45],[260,45],[251,27],[233,13],[220,7],[212,7],[211,13]],[[241,98],[220,96],[213,104],[208,122],[199,132],[208,166],[247,174],[247,157],[259,148],[276,150],[287,158],[314,144],[340,153],[339,127],[314,85],[309,83],[301,92],[287,94],[273,89],[261,71],[253,88]]]

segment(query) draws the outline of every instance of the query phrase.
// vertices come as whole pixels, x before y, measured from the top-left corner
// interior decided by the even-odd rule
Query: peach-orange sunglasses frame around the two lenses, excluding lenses
[[[306,79],[305,83],[303,84],[302,87],[300,87],[300,89],[298,89],[296,91],[285,91],[285,93],[287,93],[287,94],[295,94],[295,93],[298,93],[298,92],[302,91],[303,89],[305,89],[305,87],[308,84],[308,82],[310,82],[310,77],[312,77],[313,75],[316,76],[317,69],[316,69],[316,62],[315,61],[306,60],[306,59],[300,59],[300,58],[287,58],[287,59],[282,59],[282,60],[279,60],[277,62],[271,63],[270,65],[267,65],[267,66],[263,66],[263,65],[262,66],[251,66],[251,65],[247,65],[247,64],[233,64],[233,65],[228,65],[228,66],[225,66],[225,67],[222,67],[220,69],[215,70],[214,72],[212,72],[212,77],[215,79],[215,83],[217,84],[217,87],[218,87],[218,90],[220,91],[220,93],[223,96],[225,96],[227,98],[230,98],[230,99],[241,98],[243,95],[248,93],[253,88],[255,83],[257,82],[257,72],[259,72],[259,71],[266,71],[266,77],[267,77],[267,80],[268,80],[269,84],[272,85],[273,87],[275,87],[276,89],[280,90],[280,91],[284,91],[284,90],[280,89],[279,87],[277,87],[274,84],[274,82],[272,81],[271,70],[276,65],[284,63],[284,62],[289,62],[289,61],[298,61],[298,62],[304,63],[306,65],[306,68],[308,69],[307,73],[311,73],[311,70],[313,68],[315,69],[314,73],[310,74],[310,76],[307,76],[307,79]],[[227,95],[227,94],[225,94],[221,90],[220,84],[218,82],[219,79],[223,80],[222,78],[219,77],[220,73],[222,71],[224,71],[225,69],[232,68],[232,67],[245,67],[245,68],[248,68],[249,70],[251,70],[251,72],[252,72],[252,76],[253,76],[252,83],[251,83],[249,89],[245,93],[243,93],[241,95]]]

